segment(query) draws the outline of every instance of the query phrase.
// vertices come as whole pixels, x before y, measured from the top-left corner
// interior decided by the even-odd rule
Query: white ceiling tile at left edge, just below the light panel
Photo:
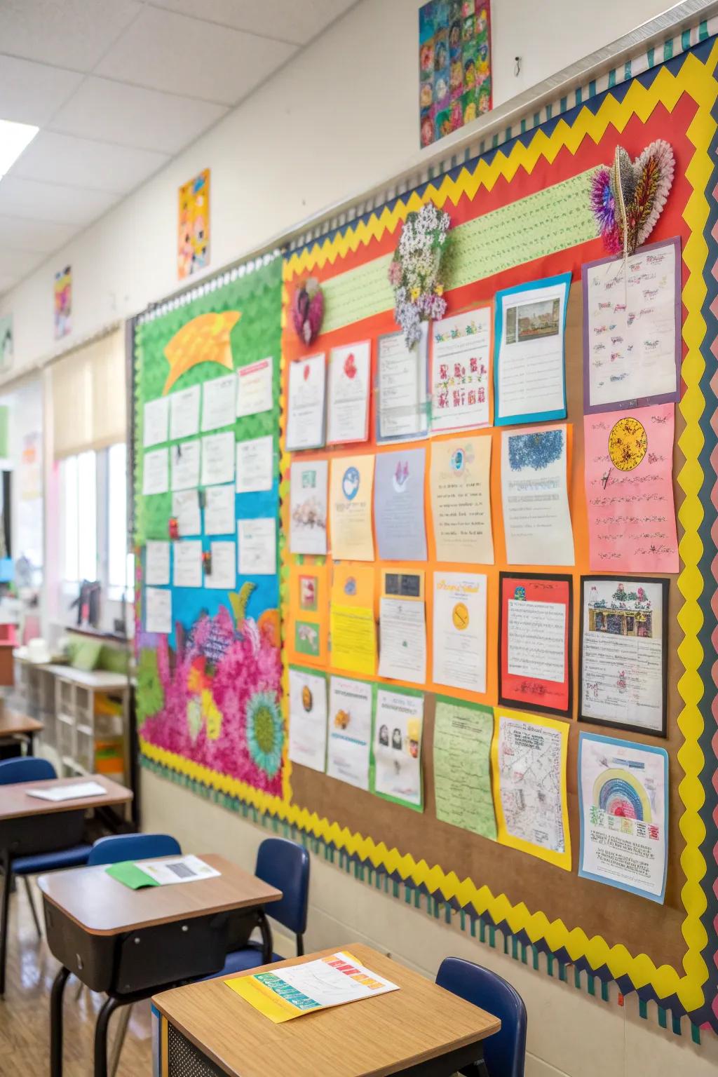
[[[39,183],[5,176],[0,180],[0,213],[85,227],[119,199],[107,191]]]

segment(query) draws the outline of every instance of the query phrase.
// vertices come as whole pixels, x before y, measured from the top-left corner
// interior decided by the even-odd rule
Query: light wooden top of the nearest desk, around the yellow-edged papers
[[[270,1073],[383,1077],[476,1044],[501,1029],[498,1018],[358,942],[239,975],[277,971],[337,950],[348,950],[367,968],[397,983],[399,991],[282,1024],[272,1024],[230,991],[223,978],[165,991],[153,1003],[230,1077],[266,1077]]]

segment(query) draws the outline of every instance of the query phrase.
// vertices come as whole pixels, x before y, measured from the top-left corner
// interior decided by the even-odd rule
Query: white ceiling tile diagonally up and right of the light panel
[[[175,154],[226,108],[90,76],[59,110],[51,130]]]

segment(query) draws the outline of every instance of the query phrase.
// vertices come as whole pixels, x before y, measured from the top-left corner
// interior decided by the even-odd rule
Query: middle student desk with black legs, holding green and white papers
[[[200,859],[221,875],[142,890],[113,879],[104,865],[40,877],[47,945],[61,965],[50,1001],[51,1077],[62,1073],[62,992],[70,973],[109,996],[95,1027],[94,1074],[105,1077],[114,1010],[160,988],[219,973],[230,913],[242,910],[254,918],[269,957],[272,940],[264,906],[279,901],[282,892],[222,856],[202,853]]]

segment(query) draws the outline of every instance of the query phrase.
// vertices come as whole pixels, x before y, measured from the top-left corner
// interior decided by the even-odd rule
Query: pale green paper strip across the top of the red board
[[[471,284],[595,238],[589,200],[592,174],[592,169],[579,172],[452,228],[447,289]],[[394,295],[386,276],[391,260],[392,255],[385,254],[322,283],[323,333],[391,310]]]

